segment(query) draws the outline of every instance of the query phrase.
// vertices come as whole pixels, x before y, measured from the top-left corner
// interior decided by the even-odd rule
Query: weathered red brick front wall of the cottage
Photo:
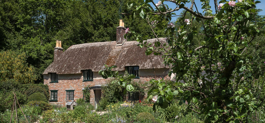
[[[82,89],[87,86],[95,86],[95,85],[104,85],[107,80],[109,79],[96,79],[94,78],[93,81],[84,81],[83,82],[83,74],[78,74],[78,76],[74,78],[63,78],[60,79],[60,74],[58,75],[59,80],[58,83],[50,83],[50,75],[44,75],[44,84],[47,84],[49,86],[50,90],[58,90],[58,101],[50,101],[51,104],[60,104],[62,106],[65,106],[66,102],[66,91],[65,90],[74,90],[74,100],[76,101],[79,98],[83,98]],[[134,81],[141,81],[141,83],[145,83],[147,81],[150,81],[150,79],[161,79],[161,76],[166,76],[166,79],[170,80],[170,77],[168,75],[157,75],[156,78],[154,75],[149,76],[140,76],[139,79],[134,79]],[[145,98],[146,98],[145,94]],[[143,97],[140,97],[140,99],[143,99]],[[90,103],[94,105],[94,91],[90,90]]]

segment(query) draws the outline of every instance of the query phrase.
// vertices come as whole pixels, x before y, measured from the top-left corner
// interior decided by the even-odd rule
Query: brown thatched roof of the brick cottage
[[[156,39],[147,41],[154,43]],[[136,41],[127,41],[122,46],[116,46],[116,41],[112,41],[72,45],[61,54],[58,60],[52,62],[43,74],[49,72],[77,74],[86,69],[99,71],[104,64],[116,65],[117,68],[113,70],[119,71],[125,70],[125,66],[135,65],[139,66],[139,69],[166,68],[161,56],[155,56],[153,53],[146,56],[146,48],[140,48],[138,44]]]

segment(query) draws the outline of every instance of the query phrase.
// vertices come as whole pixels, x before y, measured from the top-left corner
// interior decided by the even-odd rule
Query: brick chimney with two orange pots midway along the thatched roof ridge
[[[121,46],[125,41],[127,41],[127,39],[123,38],[126,28],[124,27],[124,22],[122,22],[122,20],[120,20],[120,24],[116,29],[116,45]]]

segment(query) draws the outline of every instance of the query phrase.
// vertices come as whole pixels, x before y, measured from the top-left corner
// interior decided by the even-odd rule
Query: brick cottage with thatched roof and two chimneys
[[[65,105],[69,100],[83,98],[84,87],[91,85],[90,103],[96,107],[101,97],[101,85],[108,80],[98,74],[104,64],[116,65],[113,70],[121,74],[128,71],[136,76],[135,81],[142,83],[153,78],[170,79],[167,75],[169,69],[162,63],[161,56],[146,56],[146,48],[137,46],[139,43],[136,41],[123,38],[125,30],[124,23],[120,20],[116,41],[72,45],[64,52],[61,41],[57,40],[54,61],[43,72],[44,84],[50,89],[50,103]],[[154,43],[156,39],[147,41]],[[143,97],[139,97],[138,93],[134,93],[128,99],[141,98]]]

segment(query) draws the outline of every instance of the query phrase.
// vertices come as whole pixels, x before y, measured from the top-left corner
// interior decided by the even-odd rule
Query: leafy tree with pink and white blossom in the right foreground
[[[187,111],[204,114],[205,122],[246,122],[250,113],[264,104],[265,98],[253,94],[256,88],[253,81],[264,76],[261,70],[264,64],[256,63],[245,52],[255,37],[265,34],[263,26],[252,21],[259,1],[221,0],[218,5],[214,0],[213,11],[210,0],[205,0],[202,13],[196,6],[198,1],[190,0],[190,7],[185,6],[186,0],[165,1],[176,7],[169,8],[163,1],[157,6],[152,0],[127,4],[134,9],[132,18],[139,15],[148,23],[157,20],[156,27],[169,35],[165,41],[154,33],[156,45],[148,45],[143,40],[146,36],[134,31],[124,35],[133,35],[139,46],[147,49],[147,55],[161,55],[163,63],[171,68],[169,76],[175,76],[169,83],[149,81],[155,86],[148,93],[149,101],[154,103],[153,110],[158,106],[166,108],[169,101],[178,98],[187,101]],[[175,16],[174,11],[181,9],[184,12],[176,21],[179,25],[175,26],[171,17]],[[150,28],[152,30],[152,25]],[[130,86],[128,91],[133,90],[134,85]],[[255,90],[261,92],[261,89]]]

